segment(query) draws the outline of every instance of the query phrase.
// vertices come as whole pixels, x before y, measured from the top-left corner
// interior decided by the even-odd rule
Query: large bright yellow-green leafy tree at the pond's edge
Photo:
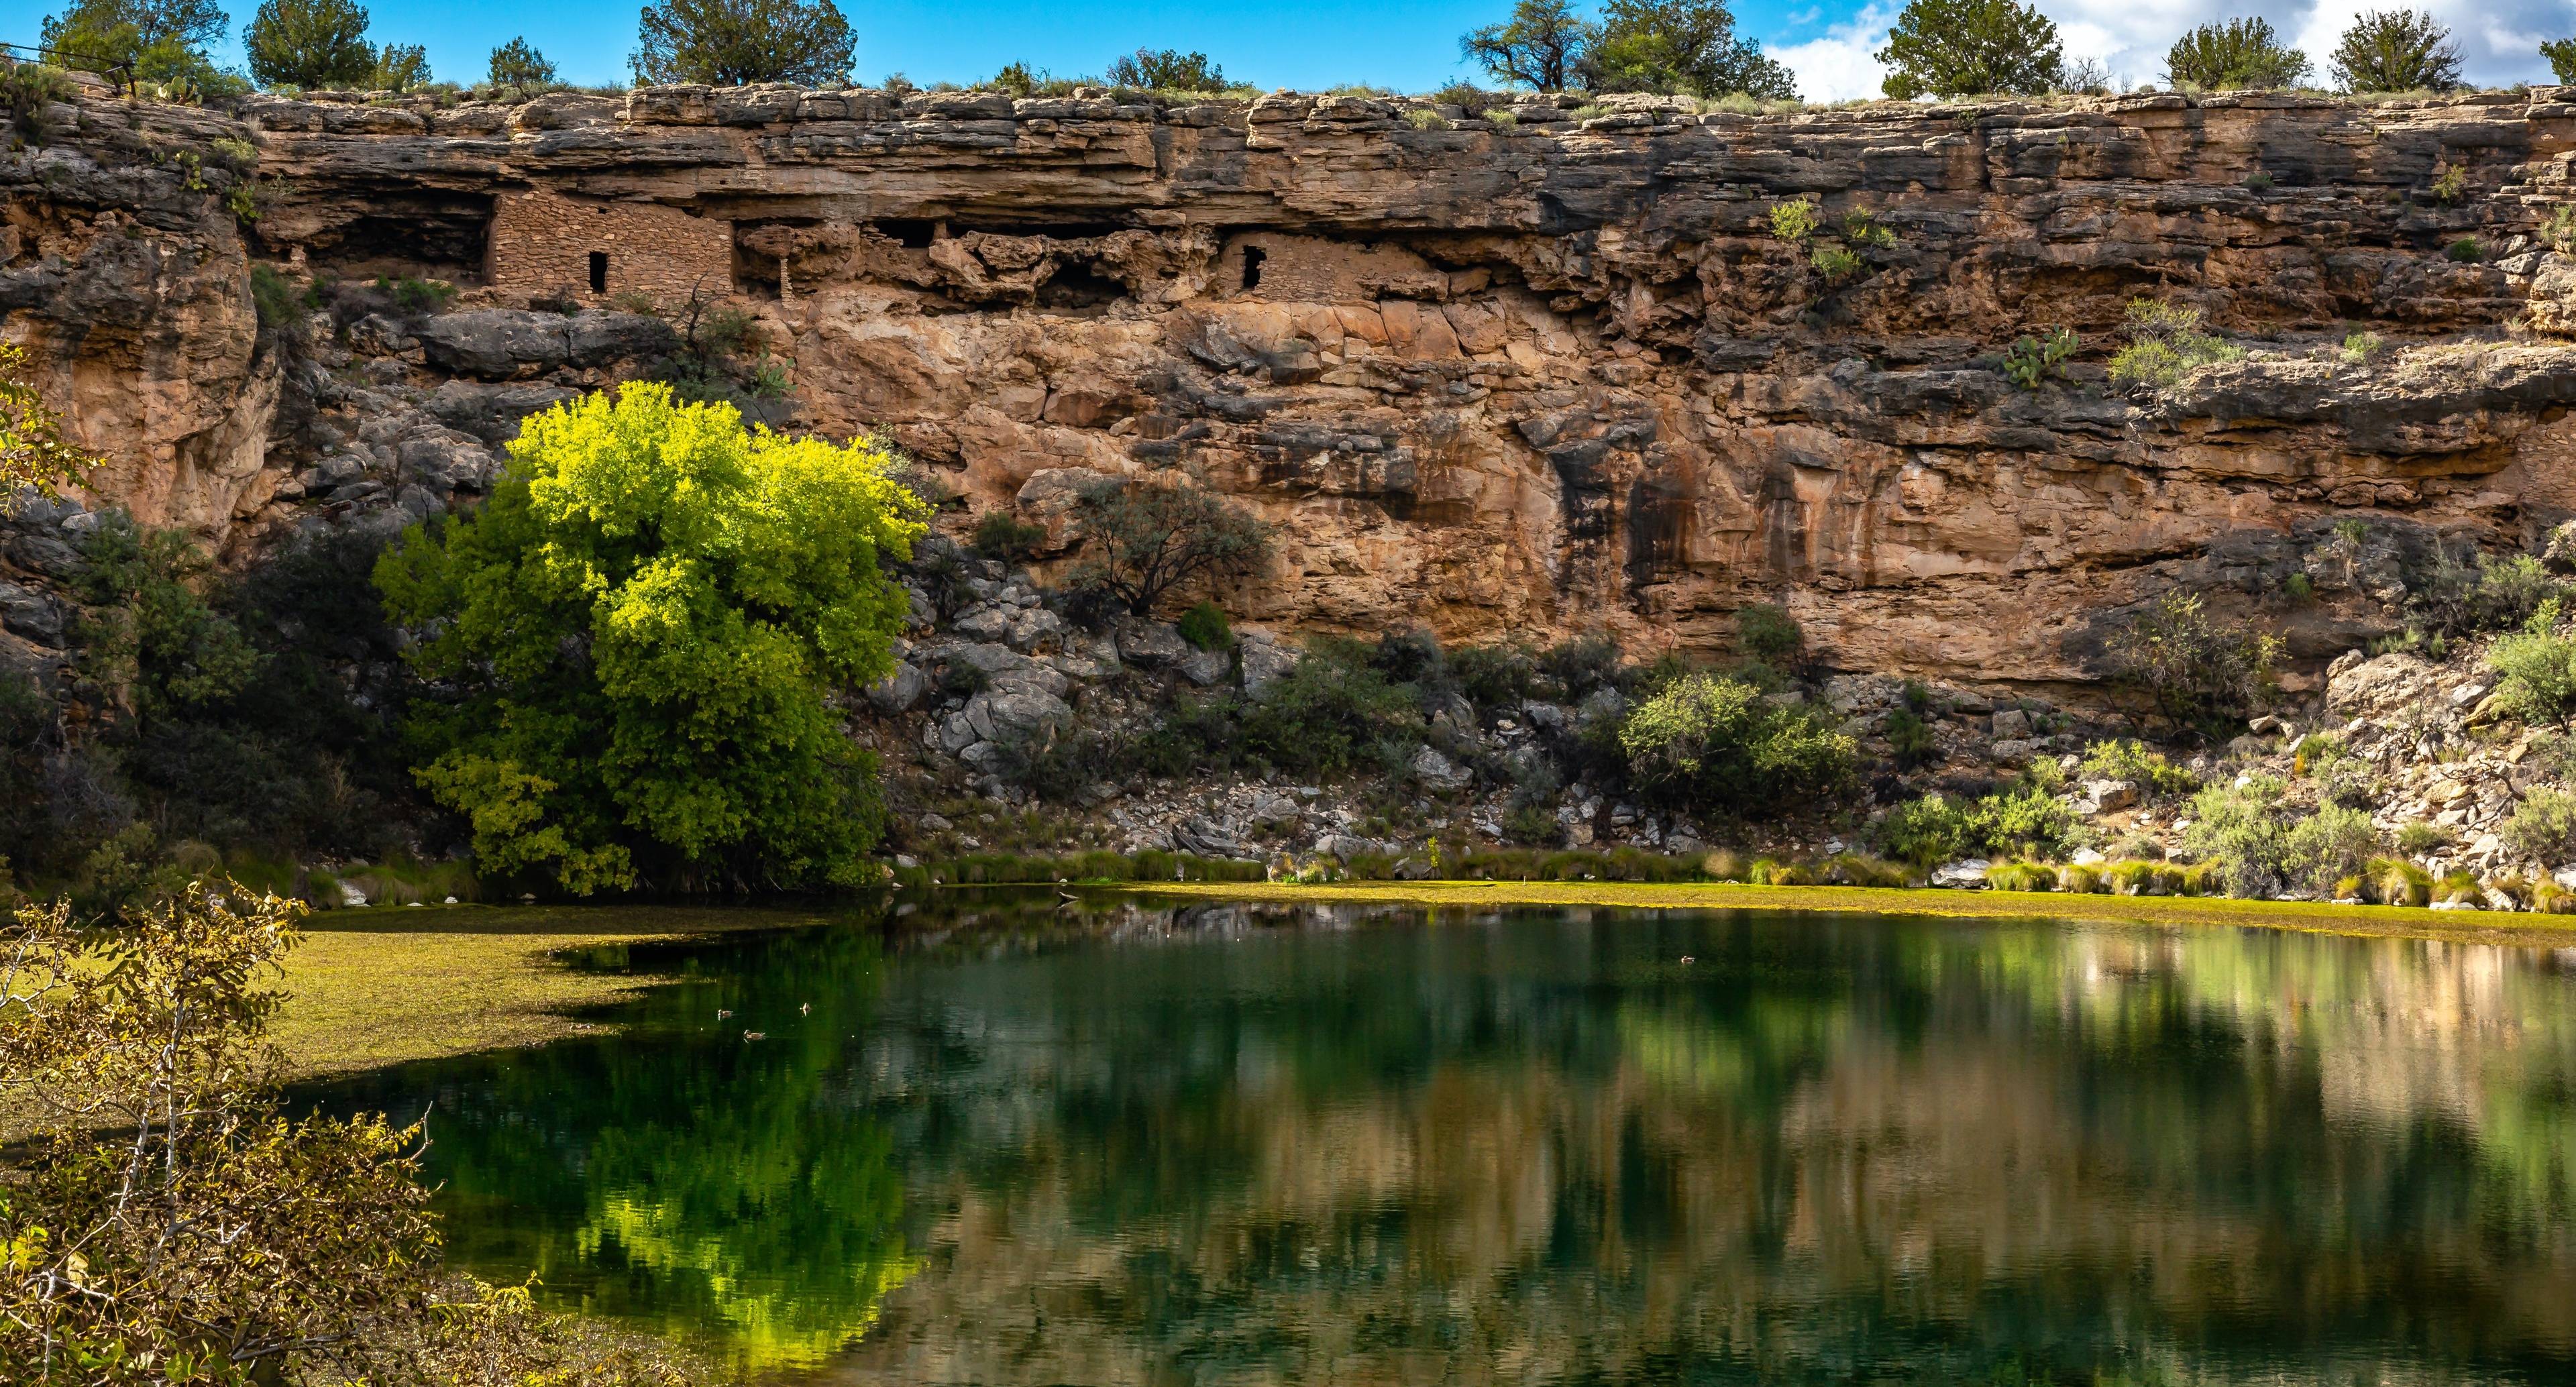
[[[376,566],[412,669],[430,795],[492,872],[572,893],[855,883],[873,764],[832,710],[894,666],[881,564],[922,504],[868,440],[744,430],[629,383],[520,427],[484,507]]]

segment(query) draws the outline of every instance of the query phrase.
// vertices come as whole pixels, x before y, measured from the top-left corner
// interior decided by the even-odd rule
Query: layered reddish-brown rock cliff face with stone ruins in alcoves
[[[185,226],[139,216],[178,175],[134,144],[183,118],[124,139],[88,100],[67,144],[10,157],[0,304],[121,455],[103,489],[209,535],[312,510],[276,481],[335,448],[495,445],[641,355],[623,317],[585,314],[611,342],[585,355],[531,301],[672,319],[685,280],[760,311],[796,427],[881,427],[1059,543],[1097,473],[1242,497],[1280,546],[1226,602],[1283,630],[1716,648],[1777,600],[1832,666],[2066,692],[2172,584],[2321,669],[2383,620],[2339,522],[2424,553],[2576,512],[2576,347],[2548,337],[2576,324],[2576,260],[2543,244],[2576,152],[2561,95],[255,98],[242,234],[211,193]],[[1801,198],[1819,229],[1783,237]],[[170,239],[155,270],[113,260],[142,255],[129,226]],[[289,368],[314,409],[281,414],[245,255],[440,275],[474,311],[358,335],[335,350],[374,360],[304,365],[301,394]],[[82,275],[170,309],[118,329]],[[2136,296],[2249,355],[2110,386]],[[2050,327],[2081,347],[2020,389],[1999,355]],[[2354,329],[2385,350],[2344,353]],[[2287,600],[2293,574],[2318,597]]]

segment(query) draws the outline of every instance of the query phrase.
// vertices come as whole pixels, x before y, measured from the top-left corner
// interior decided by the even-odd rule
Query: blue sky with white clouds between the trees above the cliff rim
[[[0,23],[0,39],[31,41],[39,5],[0,0],[26,21]],[[41,3],[41,0],[39,0]],[[2164,46],[2192,23],[2259,13],[2324,67],[2334,36],[2367,8],[2398,0],[2038,0],[2058,21],[2069,57],[2094,57],[2123,82],[2154,82]],[[2452,26],[2478,82],[2550,80],[2535,46],[2576,33],[2576,0],[2414,0]],[[234,26],[255,0],[232,0]],[[621,82],[634,49],[639,0],[374,0],[376,41],[428,44],[438,77],[482,77],[495,44],[526,36],[567,80]],[[1468,75],[1458,33],[1502,18],[1510,0],[848,0],[858,31],[858,77],[889,72],[914,82],[969,82],[1007,62],[1056,75],[1100,72],[1139,44],[1200,49],[1234,80],[1262,87],[1373,82],[1430,90]],[[1739,31],[1798,72],[1808,100],[1875,95],[1870,51],[1886,39],[1896,0],[1739,0]],[[240,62],[240,28],[222,62]]]

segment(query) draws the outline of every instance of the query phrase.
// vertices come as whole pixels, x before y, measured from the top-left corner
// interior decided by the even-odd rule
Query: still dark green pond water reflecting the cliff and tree
[[[1041,893],[582,962],[677,980],[327,1101],[762,1379],[2576,1382],[2576,950]]]

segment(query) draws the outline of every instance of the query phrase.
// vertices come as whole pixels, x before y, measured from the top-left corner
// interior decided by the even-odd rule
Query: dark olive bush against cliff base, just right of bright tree
[[[1074,587],[1154,615],[1188,582],[1247,574],[1270,556],[1270,528],[1224,497],[1180,479],[1110,476],[1074,494],[1074,533],[1084,561]]]

